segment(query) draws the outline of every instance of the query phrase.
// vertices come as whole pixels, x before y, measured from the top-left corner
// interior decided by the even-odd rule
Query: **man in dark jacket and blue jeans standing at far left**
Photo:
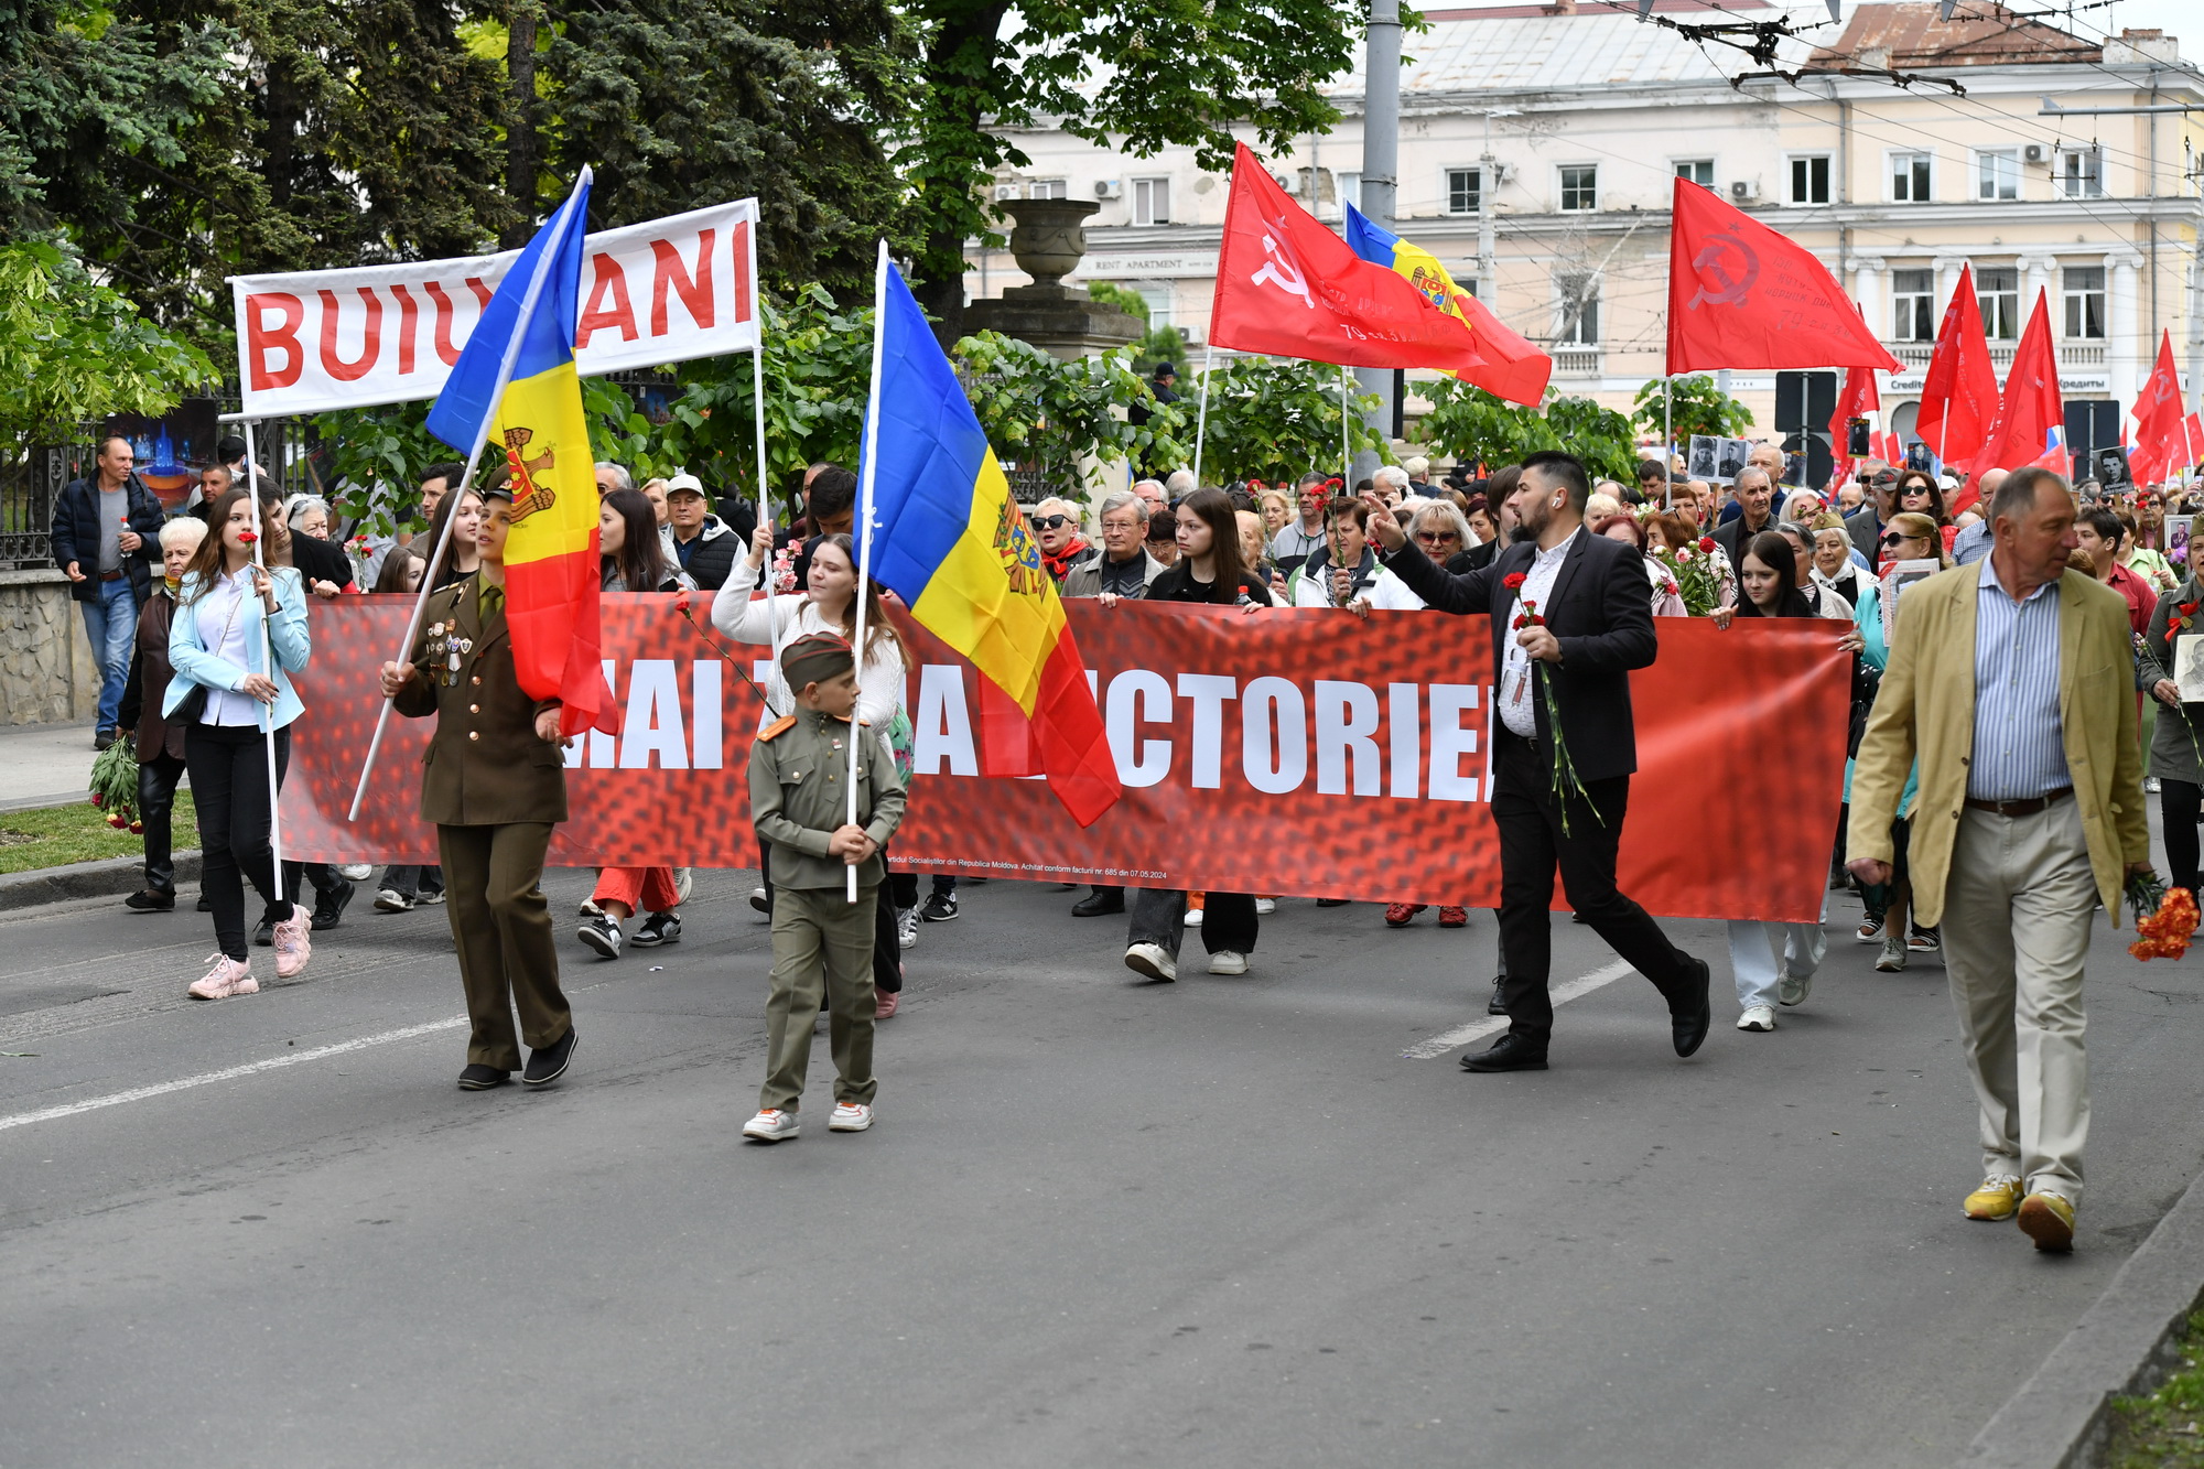
[[[73,582],[68,596],[84,607],[84,633],[99,666],[93,748],[106,750],[121,719],[137,609],[152,593],[161,501],[132,472],[130,441],[121,435],[99,441],[93,474],[68,481],[53,501],[51,543],[53,565]]]

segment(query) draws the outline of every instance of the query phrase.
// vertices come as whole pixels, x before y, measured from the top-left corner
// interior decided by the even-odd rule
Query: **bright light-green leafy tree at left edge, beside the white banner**
[[[159,415],[214,382],[196,346],[145,322],[53,245],[0,245],[0,437],[75,435],[112,412]]]

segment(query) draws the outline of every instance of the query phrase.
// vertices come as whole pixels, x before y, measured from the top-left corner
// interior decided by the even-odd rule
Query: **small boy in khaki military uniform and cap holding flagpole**
[[[798,637],[780,653],[798,712],[749,748],[749,814],[771,845],[774,995],[765,1001],[765,1090],[745,1138],[796,1136],[796,1103],[811,1065],[811,1021],[824,990],[835,1065],[829,1132],[873,1125],[873,909],[886,862],[879,849],[904,821],[904,776],[879,735],[851,723],[857,660],[835,633]],[[857,748],[857,821],[849,818],[851,746]],[[849,869],[857,869],[857,902]]]

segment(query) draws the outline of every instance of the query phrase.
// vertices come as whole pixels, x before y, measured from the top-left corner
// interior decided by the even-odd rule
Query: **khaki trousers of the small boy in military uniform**
[[[879,884],[774,889],[774,995],[765,1001],[765,1090],[758,1109],[796,1112],[811,1068],[811,1021],[827,999],[835,1101],[873,1105],[873,909]]]

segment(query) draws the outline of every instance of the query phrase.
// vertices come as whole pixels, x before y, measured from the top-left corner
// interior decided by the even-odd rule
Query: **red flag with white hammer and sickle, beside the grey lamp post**
[[[1210,340],[1342,366],[1452,373],[1479,364],[1459,315],[1435,307],[1397,271],[1360,258],[1287,199],[1245,143],[1232,161]]]

